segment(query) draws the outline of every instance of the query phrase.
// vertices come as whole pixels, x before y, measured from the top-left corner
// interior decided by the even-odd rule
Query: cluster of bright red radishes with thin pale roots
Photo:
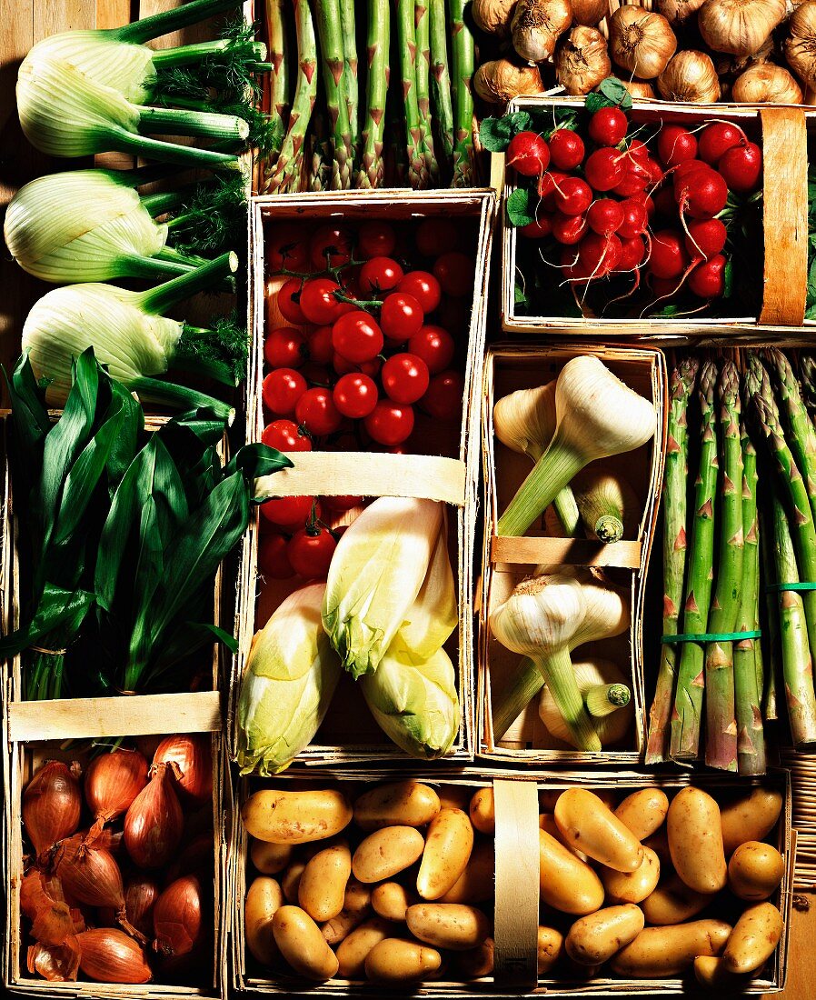
[[[560,245],[567,280],[589,283],[641,269],[657,298],[687,287],[713,299],[725,292],[726,227],[717,218],[729,191],[748,194],[762,176],[762,151],[737,125],[720,121],[692,131],[662,125],[644,142],[629,137],[617,107],[591,115],[586,144],[557,128],[548,140],[514,136],[508,164],[537,180],[540,209],[521,228]]]

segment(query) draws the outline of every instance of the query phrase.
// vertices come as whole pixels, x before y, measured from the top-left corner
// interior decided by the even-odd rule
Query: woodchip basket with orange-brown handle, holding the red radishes
[[[509,111],[583,107],[579,98],[517,98]],[[745,104],[671,104],[636,101],[630,112],[636,123],[674,122],[689,127],[715,118],[733,121],[761,142],[763,180],[764,266],[759,315],[728,318],[687,316],[643,319],[521,315],[515,305],[518,231],[504,221],[502,240],[502,326],[512,333],[568,333],[614,339],[678,342],[706,337],[734,345],[762,340],[807,343],[813,321],[805,320],[808,270],[808,138],[816,127],[816,111]],[[505,197],[513,191],[508,176]]]

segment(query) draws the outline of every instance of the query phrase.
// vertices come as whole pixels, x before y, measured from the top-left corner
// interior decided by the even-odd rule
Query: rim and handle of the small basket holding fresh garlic
[[[549,537],[497,537],[495,525],[499,517],[497,469],[495,459],[495,433],[493,405],[495,402],[495,376],[497,366],[513,361],[538,362],[542,368],[565,363],[581,354],[590,354],[610,364],[630,362],[648,366],[648,384],[657,413],[657,426],[648,460],[648,486],[640,491],[643,500],[637,537],[622,539],[611,545],[589,540]],[[553,375],[552,377],[555,377]],[[540,383],[539,383],[540,384]],[[668,394],[665,359],[661,351],[647,348],[601,347],[576,344],[550,345],[549,343],[499,344],[488,349],[485,361],[482,392],[482,451],[484,461],[485,527],[482,553],[481,604],[478,640],[478,677],[476,731],[478,754],[481,758],[502,763],[538,765],[542,763],[577,763],[599,765],[637,764],[645,746],[645,690],[643,678],[643,604],[645,600],[646,571],[657,524],[663,466],[666,449],[666,424]],[[618,567],[631,571],[630,600],[631,625],[629,631],[630,669],[632,673],[632,700],[635,706],[634,748],[603,750],[587,754],[574,748],[525,749],[499,746],[493,737],[489,616],[494,598],[494,581],[497,564],[535,566],[537,564],[563,564],[568,566]],[[564,745],[558,744],[563,747]]]

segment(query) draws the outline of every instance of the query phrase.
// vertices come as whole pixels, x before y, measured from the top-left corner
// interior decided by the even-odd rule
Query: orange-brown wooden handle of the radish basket
[[[763,326],[802,326],[807,295],[807,131],[801,108],[762,108]]]

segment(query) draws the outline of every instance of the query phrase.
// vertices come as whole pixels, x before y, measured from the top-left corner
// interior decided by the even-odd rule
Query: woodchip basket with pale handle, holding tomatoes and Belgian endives
[[[459,737],[451,751],[471,759],[472,698],[472,560],[476,530],[476,486],[478,482],[478,413],[471,405],[471,387],[481,379],[485,337],[487,262],[495,211],[492,191],[423,192],[374,191],[281,195],[255,198],[250,216],[252,245],[251,295],[253,349],[251,386],[255,407],[247,424],[247,440],[260,439],[263,429],[261,383],[263,381],[263,338],[267,317],[265,294],[268,276],[264,262],[264,224],[274,220],[319,219],[422,219],[429,216],[461,218],[473,227],[476,279],[470,319],[465,396],[456,457],[440,455],[390,455],[366,452],[298,452],[294,468],[269,479],[273,495],[297,496],[413,496],[444,501],[448,505],[451,562],[458,576],[458,645],[452,647],[456,663],[458,649],[461,721]],[[291,581],[268,586],[256,612],[258,592],[257,549],[259,515],[244,537],[238,581],[235,634],[239,651],[233,658],[230,677],[231,751],[237,753],[237,702],[241,677],[252,636],[280,602],[294,589]],[[345,719],[345,724],[342,720]],[[332,725],[335,728],[332,730]],[[345,725],[345,729],[338,726]],[[341,678],[333,708],[315,742],[301,755],[311,763],[331,763],[344,759],[405,759],[370,718],[359,691],[350,678]]]

